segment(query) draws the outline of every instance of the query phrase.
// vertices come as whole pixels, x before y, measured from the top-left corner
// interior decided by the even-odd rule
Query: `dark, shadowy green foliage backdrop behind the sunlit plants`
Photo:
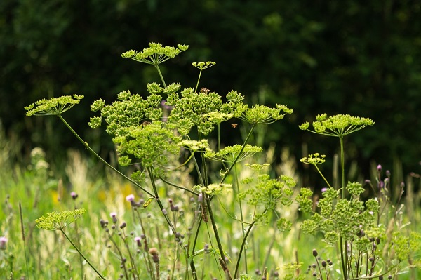
[[[269,127],[265,144],[288,145],[300,158],[335,152],[336,142],[303,133],[315,114],[373,119],[352,135],[349,157],[368,168],[370,159],[404,172],[421,160],[420,1],[0,1],[0,118],[25,150],[51,153],[81,147],[55,118],[27,118],[23,106],[40,98],[83,94],[66,119],[91,147],[103,134],[88,128],[97,98],[145,92],[159,81],[153,67],[123,60],[149,41],[188,44],[189,51],[163,65],[167,84],[195,86],[194,61],[217,65],[201,86],[225,95],[236,89],[252,102],[286,104],[295,113]],[[168,75],[166,75],[168,74]],[[262,100],[261,100],[262,101]],[[104,140],[104,139],[102,139]],[[365,172],[365,171],[364,171]]]

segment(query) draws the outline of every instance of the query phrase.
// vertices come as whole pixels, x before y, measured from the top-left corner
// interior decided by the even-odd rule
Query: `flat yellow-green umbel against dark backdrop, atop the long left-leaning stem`
[[[59,98],[51,98],[50,100],[41,99],[25,107],[27,116],[46,116],[46,115],[60,115],[79,104],[83,99],[83,95],[63,95]]]

